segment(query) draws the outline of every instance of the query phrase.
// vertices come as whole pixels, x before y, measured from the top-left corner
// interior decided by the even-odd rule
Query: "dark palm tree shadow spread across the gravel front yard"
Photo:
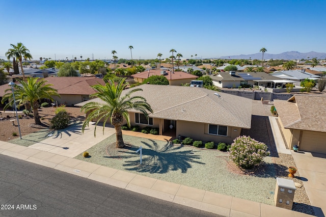
[[[159,174],[181,170],[182,173],[186,173],[189,168],[192,168],[191,164],[204,165],[203,162],[199,161],[201,156],[195,153],[199,151],[182,150],[182,146],[173,146],[171,142],[167,142],[165,146],[160,148],[154,140],[150,140],[150,142],[142,142],[142,165],[139,157],[134,160],[127,160],[123,165],[128,167],[126,170]],[[124,151],[127,155],[122,158],[139,156],[140,153],[135,152],[138,148],[132,146]]]

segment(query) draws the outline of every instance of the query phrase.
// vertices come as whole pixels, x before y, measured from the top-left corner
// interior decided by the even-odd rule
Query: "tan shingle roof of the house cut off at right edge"
[[[274,104],[285,128],[326,132],[326,97],[294,95]]]

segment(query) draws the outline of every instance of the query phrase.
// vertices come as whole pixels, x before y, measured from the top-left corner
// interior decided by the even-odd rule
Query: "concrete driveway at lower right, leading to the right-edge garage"
[[[291,150],[316,216],[326,213],[326,154]]]

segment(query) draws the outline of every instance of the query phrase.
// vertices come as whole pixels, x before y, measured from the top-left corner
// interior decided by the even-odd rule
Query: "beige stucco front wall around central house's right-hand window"
[[[235,131],[236,130],[236,131]],[[177,135],[183,135],[185,137],[193,138],[193,140],[201,140],[203,142],[213,141],[215,143],[224,142],[231,144],[235,138],[241,133],[241,128],[228,127],[228,135],[212,135],[208,134],[208,124],[189,122],[189,121],[177,121]]]

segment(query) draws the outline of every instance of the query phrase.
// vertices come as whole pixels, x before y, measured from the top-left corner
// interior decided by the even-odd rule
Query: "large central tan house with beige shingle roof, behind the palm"
[[[185,86],[141,85],[135,88],[143,89],[134,95],[145,97],[153,114],[146,119],[142,113],[129,111],[131,125],[157,127],[163,135],[169,132],[191,137],[194,141],[227,144],[241,134],[242,128],[251,127],[251,99]],[[90,101],[102,102],[99,98]],[[173,129],[169,128],[171,124]]]

